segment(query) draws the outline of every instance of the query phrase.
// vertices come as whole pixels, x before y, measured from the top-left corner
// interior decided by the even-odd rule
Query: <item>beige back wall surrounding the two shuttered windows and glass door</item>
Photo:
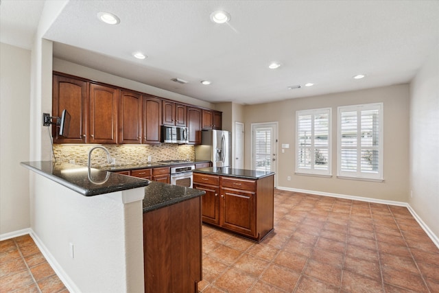
[[[337,106],[383,102],[384,109],[384,182],[337,178]],[[332,108],[332,177],[295,175],[296,110]],[[407,202],[409,157],[409,86],[386,86],[363,91],[334,93],[316,97],[288,99],[281,102],[245,106],[245,144],[250,143],[250,125],[278,122],[278,187],[305,189],[322,193],[361,196],[380,200]],[[281,153],[281,144],[289,149]],[[250,167],[246,148],[245,165]],[[287,176],[292,180],[287,181]]]

